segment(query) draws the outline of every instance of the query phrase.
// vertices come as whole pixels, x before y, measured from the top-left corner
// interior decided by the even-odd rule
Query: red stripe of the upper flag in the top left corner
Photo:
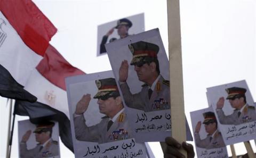
[[[0,10],[24,43],[35,53],[44,56],[57,28],[38,7],[31,0],[1,0]]]

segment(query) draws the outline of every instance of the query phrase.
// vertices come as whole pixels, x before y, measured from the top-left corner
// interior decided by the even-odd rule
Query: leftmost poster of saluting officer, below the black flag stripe
[[[19,157],[60,157],[58,122],[18,122]]]

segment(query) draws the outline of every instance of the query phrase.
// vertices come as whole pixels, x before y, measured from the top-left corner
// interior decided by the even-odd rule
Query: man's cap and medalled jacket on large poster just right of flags
[[[99,90],[93,98],[106,100],[109,97],[120,96],[114,78],[97,80],[96,85]],[[117,119],[112,121],[113,124],[109,127],[110,118],[107,115],[102,118],[100,123],[88,127],[82,114],[74,114],[76,139],[86,142],[107,143],[132,138],[132,130],[129,127],[128,119],[126,119],[126,113],[124,109],[121,111],[116,114]]]

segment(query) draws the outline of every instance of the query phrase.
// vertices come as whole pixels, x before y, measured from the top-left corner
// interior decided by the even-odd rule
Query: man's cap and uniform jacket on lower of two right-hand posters
[[[217,120],[215,118],[215,114],[213,112],[205,112],[204,115],[204,122],[203,124],[210,124],[210,123],[216,123]],[[216,125],[217,128],[217,125]],[[214,133],[214,132],[213,132]],[[219,147],[225,147],[224,140],[222,138],[221,133],[218,129],[215,130],[215,133],[213,136],[210,134],[206,136],[205,139],[201,139],[198,132],[195,132],[195,142],[197,147],[205,148],[205,149],[213,149],[213,148],[219,148]]]

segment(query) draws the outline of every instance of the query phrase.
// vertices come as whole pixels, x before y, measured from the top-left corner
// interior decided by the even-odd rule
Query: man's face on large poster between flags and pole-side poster
[[[98,99],[100,113],[109,115],[113,113],[117,108],[116,99],[113,97],[107,98],[106,100]]]

